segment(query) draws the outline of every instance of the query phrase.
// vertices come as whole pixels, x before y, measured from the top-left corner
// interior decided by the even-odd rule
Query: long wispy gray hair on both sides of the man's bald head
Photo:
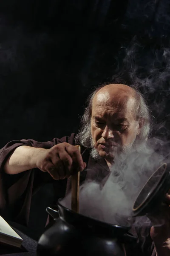
[[[80,129],[78,134],[76,135],[75,141],[76,144],[82,145],[86,148],[91,148],[91,113],[92,113],[92,103],[94,96],[96,93],[104,87],[104,85],[95,88],[95,90],[88,96],[88,99],[86,101],[87,107],[85,108],[84,114],[82,116],[81,122],[80,122]],[[140,93],[138,90],[136,90],[135,87],[130,86],[134,92],[135,92],[135,115],[136,119],[143,119],[144,123],[141,128],[140,134],[138,135],[138,140],[143,143],[146,141],[150,135],[151,132],[151,118],[150,118],[150,111],[149,108],[146,105],[146,102],[142,96],[142,93]]]

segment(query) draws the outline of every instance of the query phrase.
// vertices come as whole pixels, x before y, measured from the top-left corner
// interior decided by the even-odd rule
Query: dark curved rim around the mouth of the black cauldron
[[[93,217],[89,217],[89,216],[86,216],[86,215],[83,215],[81,213],[77,213],[77,212],[74,212],[72,211],[71,209],[63,206],[60,201],[62,201],[63,198],[59,198],[58,201],[57,201],[57,205],[59,206],[59,208],[62,208],[64,209],[65,212],[68,212],[70,213],[71,215],[74,215],[75,217],[77,218],[82,218],[83,220],[87,220],[89,222],[93,222],[94,224],[96,224],[97,226],[102,226],[102,227],[105,227],[105,228],[109,228],[109,229],[113,229],[113,228],[116,228],[116,229],[119,229],[119,230],[122,230],[124,232],[127,232],[128,230],[130,230],[131,228],[131,225],[130,224],[127,224],[127,226],[123,226],[123,225],[117,225],[117,224],[111,224],[111,223],[108,223],[108,222],[104,222],[104,221],[99,221],[98,219],[96,218],[93,218]],[[60,216],[61,218],[61,216]],[[128,221],[127,221],[128,223]]]

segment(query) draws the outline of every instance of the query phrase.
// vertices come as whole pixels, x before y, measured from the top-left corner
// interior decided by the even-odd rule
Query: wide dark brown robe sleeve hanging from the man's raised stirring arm
[[[45,182],[52,182],[52,177],[39,169],[31,169],[15,175],[4,172],[3,166],[10,154],[19,146],[28,145],[36,148],[51,148],[59,143],[74,145],[75,134],[61,139],[54,138],[47,142],[32,139],[13,140],[0,150],[0,215],[7,220],[28,225],[31,197],[34,190]],[[36,180],[36,182],[35,182]]]

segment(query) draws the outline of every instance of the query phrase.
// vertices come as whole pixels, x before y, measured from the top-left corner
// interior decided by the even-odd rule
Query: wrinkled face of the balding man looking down
[[[126,93],[97,93],[92,104],[91,136],[99,155],[112,162],[122,148],[132,145],[139,134],[133,116],[135,100]]]

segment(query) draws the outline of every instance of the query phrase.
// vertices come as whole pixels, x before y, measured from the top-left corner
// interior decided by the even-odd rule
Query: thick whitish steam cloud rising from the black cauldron
[[[117,159],[105,183],[86,180],[80,186],[79,213],[111,224],[131,224],[138,193],[164,159],[162,152],[155,152],[163,143],[150,139],[133,148],[123,161]],[[71,209],[71,193],[61,203]]]

